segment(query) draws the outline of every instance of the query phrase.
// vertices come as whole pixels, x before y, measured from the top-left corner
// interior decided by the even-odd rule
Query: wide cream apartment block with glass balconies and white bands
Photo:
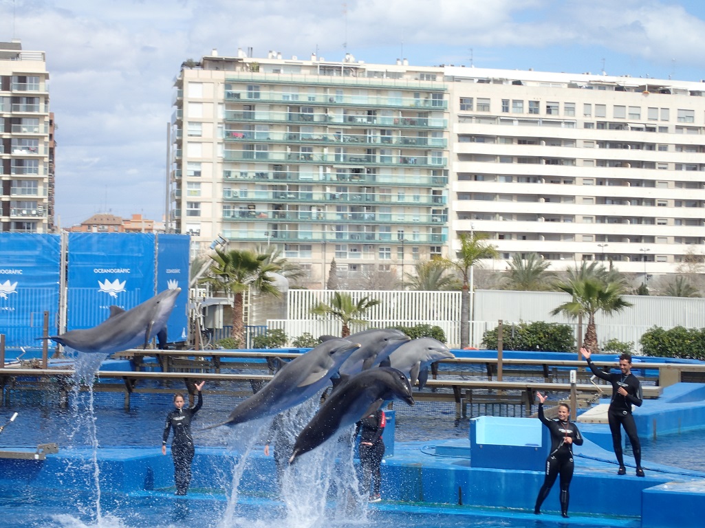
[[[553,269],[702,259],[705,83],[248,55],[176,80],[171,228],[196,247],[276,243],[311,287],[472,231]]]

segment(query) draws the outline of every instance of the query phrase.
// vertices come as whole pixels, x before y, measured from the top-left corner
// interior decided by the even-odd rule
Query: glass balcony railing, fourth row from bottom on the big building
[[[447,176],[415,175],[410,178],[407,174],[367,174],[367,173],[298,173],[295,171],[223,171],[224,180],[252,182],[264,181],[296,182],[296,183],[326,183],[338,185],[339,183],[353,183],[355,185],[403,185],[405,187],[445,187],[448,185]]]

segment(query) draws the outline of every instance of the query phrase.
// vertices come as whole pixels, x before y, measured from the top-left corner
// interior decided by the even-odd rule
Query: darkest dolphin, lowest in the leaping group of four
[[[372,414],[395,396],[414,405],[409,380],[403,372],[391,367],[364,370],[345,380],[300,432],[289,463],[320,446],[339,429]]]

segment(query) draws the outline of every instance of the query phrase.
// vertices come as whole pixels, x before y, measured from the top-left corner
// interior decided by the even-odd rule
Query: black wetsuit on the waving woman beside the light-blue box
[[[551,431],[551,453],[546,458],[546,478],[544,478],[544,485],[541,486],[536,498],[534,512],[540,512],[541,504],[544,503],[553,483],[556,482],[556,477],[560,474],[560,512],[564,517],[567,517],[568,499],[570,498],[568,486],[570,486],[573,472],[572,443],[576,446],[582,446],[582,435],[572,422],[560,422],[558,419],[549,420],[546,418],[544,405],[541,403],[539,403],[539,419]],[[572,438],[572,443],[563,441],[566,436]]]

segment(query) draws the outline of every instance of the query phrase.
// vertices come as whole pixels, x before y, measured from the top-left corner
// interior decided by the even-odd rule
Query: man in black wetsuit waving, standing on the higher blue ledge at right
[[[619,469],[617,474],[623,475],[627,472],[624,467],[624,455],[622,453],[622,429],[629,437],[632,444],[632,453],[634,453],[634,461],[637,465],[637,477],[644,477],[644,469],[642,469],[642,444],[639,442],[637,434],[637,424],[632,416],[632,405],[637,407],[642,406],[642,384],[639,383],[637,377],[632,374],[632,356],[623,354],[619,357],[619,367],[622,372],[620,374],[611,374],[602,372],[595,367],[590,360],[591,352],[585,348],[581,348],[580,352],[587,360],[588,367],[595,376],[609,383],[612,383],[612,400],[607,411],[607,419],[610,424],[610,432],[612,433],[612,445],[617,455]]]

